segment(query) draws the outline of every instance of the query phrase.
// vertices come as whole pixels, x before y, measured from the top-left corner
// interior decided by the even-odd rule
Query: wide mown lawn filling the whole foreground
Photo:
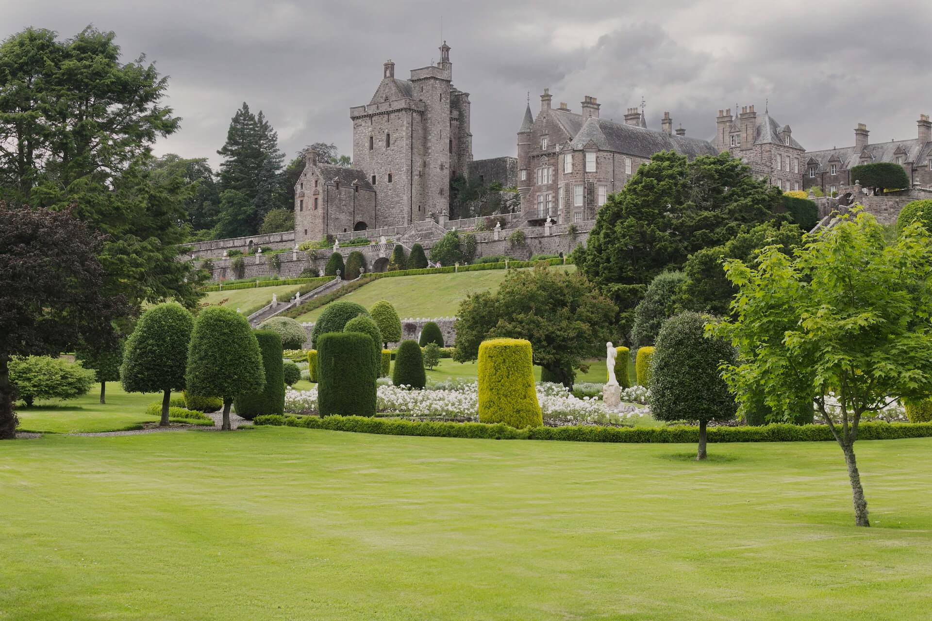
[[[261,427],[0,450],[0,618],[926,619],[932,439]]]

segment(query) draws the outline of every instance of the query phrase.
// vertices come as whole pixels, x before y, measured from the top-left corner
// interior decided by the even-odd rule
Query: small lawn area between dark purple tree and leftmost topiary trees
[[[181,393],[173,395],[181,397]],[[20,431],[45,433],[94,433],[137,429],[143,423],[158,422],[156,416],[146,416],[145,407],[161,402],[160,394],[125,393],[119,382],[107,382],[106,404],[101,405],[101,385],[95,384],[83,397],[41,401],[32,408],[21,403],[16,415]]]

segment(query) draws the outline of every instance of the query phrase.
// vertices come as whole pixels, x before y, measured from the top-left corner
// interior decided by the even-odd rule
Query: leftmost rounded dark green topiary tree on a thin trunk
[[[127,339],[120,367],[123,390],[162,393],[159,425],[169,424],[171,391],[185,389],[185,358],[193,327],[194,317],[181,304],[169,302],[145,311]]]

